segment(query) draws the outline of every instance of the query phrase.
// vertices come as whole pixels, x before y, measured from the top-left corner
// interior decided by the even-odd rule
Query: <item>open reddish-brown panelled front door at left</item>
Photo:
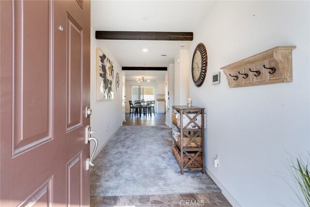
[[[90,1],[0,0],[0,206],[88,206]]]

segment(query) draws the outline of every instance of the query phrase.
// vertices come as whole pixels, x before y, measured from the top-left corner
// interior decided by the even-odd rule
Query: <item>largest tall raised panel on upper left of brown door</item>
[[[38,8],[42,10],[34,12]],[[13,14],[12,133],[13,156],[16,156],[51,139],[52,3],[13,1]],[[34,22],[33,19],[38,21]],[[37,30],[36,27],[41,29]]]

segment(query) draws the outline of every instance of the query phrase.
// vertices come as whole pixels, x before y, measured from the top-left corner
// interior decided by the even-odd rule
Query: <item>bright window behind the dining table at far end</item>
[[[154,100],[154,87],[152,86],[141,86],[133,85],[131,86],[131,100]]]

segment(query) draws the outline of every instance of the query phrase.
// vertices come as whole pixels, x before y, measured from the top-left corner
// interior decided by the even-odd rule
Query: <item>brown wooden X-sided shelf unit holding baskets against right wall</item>
[[[202,173],[204,174],[204,108],[195,106],[187,107],[186,105],[172,106],[172,112],[174,111],[180,113],[180,127],[177,123],[174,123],[173,121],[172,127],[179,129],[181,144],[175,142],[174,138],[172,137],[171,147],[175,147],[180,151],[181,160],[178,163],[181,168],[181,174],[183,175],[184,171],[202,171]],[[189,113],[194,114],[194,116],[190,117]],[[183,127],[183,114],[186,115],[186,117],[189,119],[189,122],[185,125],[185,127]],[[198,117],[199,114],[201,114],[201,127],[198,123],[195,122],[195,119]],[[196,128],[187,128],[191,123],[195,124]],[[201,144],[196,143],[196,138],[198,138],[199,136],[202,138]],[[190,141],[185,146],[184,137],[188,137],[190,139]],[[188,146],[189,143],[196,143],[197,147]],[[184,156],[187,156],[189,160],[186,165],[184,165]],[[198,156],[201,156],[202,164],[196,162],[195,159]],[[174,157],[175,159],[177,159],[175,155]],[[191,163],[195,163],[197,167],[190,167]]]

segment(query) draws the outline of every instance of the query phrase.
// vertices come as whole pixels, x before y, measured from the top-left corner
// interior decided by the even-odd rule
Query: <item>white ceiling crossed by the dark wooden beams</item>
[[[212,4],[213,1],[203,0],[92,0],[91,24],[95,30],[103,31],[193,32]],[[174,63],[181,44],[188,48],[187,41],[100,41],[122,66],[168,66]],[[143,48],[148,51],[143,52]],[[162,54],[167,57],[161,57]],[[129,76],[141,77],[141,73],[126,71],[126,80],[136,80]],[[146,72],[144,76],[164,80],[158,71]]]

